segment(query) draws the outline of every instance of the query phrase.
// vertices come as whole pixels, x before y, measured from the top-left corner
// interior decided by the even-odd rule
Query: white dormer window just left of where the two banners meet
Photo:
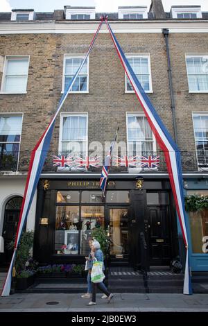
[[[64,6],[66,19],[85,20],[95,19],[95,7],[71,7]]]

